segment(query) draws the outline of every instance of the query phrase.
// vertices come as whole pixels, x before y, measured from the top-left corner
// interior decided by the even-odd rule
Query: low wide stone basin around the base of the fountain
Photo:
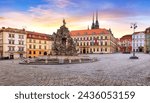
[[[60,65],[60,64],[80,64],[98,61],[97,58],[89,56],[42,56],[32,59],[23,59],[20,64],[26,65]]]

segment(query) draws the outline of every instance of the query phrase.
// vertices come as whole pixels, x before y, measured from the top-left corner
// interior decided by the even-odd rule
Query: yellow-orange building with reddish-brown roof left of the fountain
[[[34,58],[50,55],[52,50],[52,38],[48,34],[27,32],[27,57]]]

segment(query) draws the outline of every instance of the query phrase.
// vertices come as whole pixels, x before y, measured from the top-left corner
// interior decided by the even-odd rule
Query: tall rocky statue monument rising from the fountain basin
[[[63,25],[57,30],[57,33],[53,33],[54,43],[52,46],[52,55],[58,56],[75,56],[77,50],[73,39],[70,36],[70,32],[66,27],[65,19]]]

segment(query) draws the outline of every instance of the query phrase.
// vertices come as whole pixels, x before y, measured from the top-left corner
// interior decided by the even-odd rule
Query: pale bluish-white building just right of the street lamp
[[[144,52],[144,45],[145,45],[145,33],[142,32],[135,32],[132,35],[132,51],[135,52]]]

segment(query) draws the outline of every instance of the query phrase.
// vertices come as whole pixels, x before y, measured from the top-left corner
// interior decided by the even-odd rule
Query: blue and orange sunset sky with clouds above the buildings
[[[99,11],[100,28],[111,28],[115,37],[150,26],[150,0],[0,0],[0,27],[25,28],[52,34],[66,19],[69,30],[87,29]]]

